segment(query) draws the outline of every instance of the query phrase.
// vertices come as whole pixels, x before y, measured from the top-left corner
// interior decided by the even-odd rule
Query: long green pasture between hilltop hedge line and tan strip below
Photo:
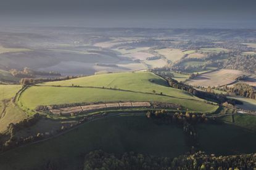
[[[148,93],[81,87],[31,87],[22,93],[19,105],[31,110],[40,105],[109,101],[170,102],[180,104],[194,112],[214,112],[218,108],[218,106],[206,104],[201,99],[196,98],[186,99]]]

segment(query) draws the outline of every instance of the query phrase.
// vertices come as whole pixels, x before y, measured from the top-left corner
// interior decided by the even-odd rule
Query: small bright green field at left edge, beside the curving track
[[[0,101],[14,97],[20,88],[21,85],[0,85]]]

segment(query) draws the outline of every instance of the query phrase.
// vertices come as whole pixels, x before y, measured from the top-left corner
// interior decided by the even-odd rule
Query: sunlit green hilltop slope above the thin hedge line
[[[80,87],[120,88],[122,90],[141,91],[146,93],[152,93],[152,91],[155,90],[156,93],[162,92],[163,95],[196,99],[186,91],[168,87],[166,80],[151,72],[100,74],[72,80],[43,83],[43,85],[60,86],[72,86],[72,84],[79,85]]]

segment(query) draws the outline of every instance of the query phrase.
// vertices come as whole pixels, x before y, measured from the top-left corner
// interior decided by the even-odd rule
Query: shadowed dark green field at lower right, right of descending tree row
[[[255,119],[254,119],[255,120]],[[255,122],[254,122],[255,126]],[[217,155],[256,152],[256,133],[230,124],[205,124],[197,127],[199,149]]]

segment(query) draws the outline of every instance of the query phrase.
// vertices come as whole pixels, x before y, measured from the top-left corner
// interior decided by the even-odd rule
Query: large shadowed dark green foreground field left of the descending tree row
[[[60,161],[60,169],[78,169],[83,154],[94,149],[173,157],[189,150],[184,140],[182,128],[156,125],[144,116],[104,118],[49,141],[0,155],[0,169],[40,169],[49,160]]]

